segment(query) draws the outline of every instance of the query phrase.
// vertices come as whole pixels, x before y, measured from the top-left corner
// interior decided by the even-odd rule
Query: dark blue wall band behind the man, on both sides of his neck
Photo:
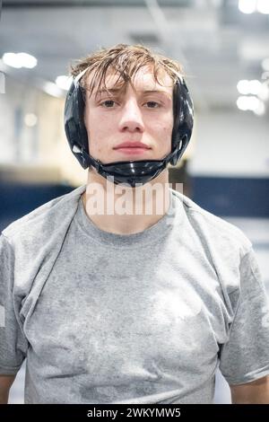
[[[215,215],[269,218],[269,179],[193,177],[190,183],[192,199]],[[72,189],[0,182],[0,229]]]

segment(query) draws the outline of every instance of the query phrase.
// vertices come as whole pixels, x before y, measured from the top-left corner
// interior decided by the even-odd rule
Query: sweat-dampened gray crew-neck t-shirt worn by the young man
[[[27,356],[25,402],[212,403],[218,365],[230,384],[269,374],[247,237],[172,189],[157,224],[107,233],[85,214],[84,189],[0,238],[0,374]]]

